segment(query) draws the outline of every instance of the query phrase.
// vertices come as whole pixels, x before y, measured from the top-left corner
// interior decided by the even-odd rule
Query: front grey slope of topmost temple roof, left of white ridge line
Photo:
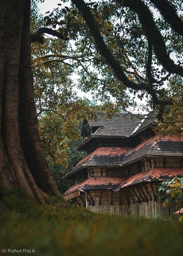
[[[130,114],[122,114],[116,113],[114,116],[106,120],[104,118],[105,113],[98,113],[98,119],[96,121],[90,121],[91,127],[100,127],[95,133],[93,133],[93,137],[95,136],[120,136],[120,137],[129,137],[132,132],[136,129],[136,127],[141,124],[141,121],[144,115],[139,115],[140,118],[130,115]]]

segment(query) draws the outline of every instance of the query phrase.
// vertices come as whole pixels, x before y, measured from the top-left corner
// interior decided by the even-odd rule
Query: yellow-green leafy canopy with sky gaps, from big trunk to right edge
[[[95,117],[97,107],[91,108],[86,100],[79,98],[78,89],[90,91],[95,105],[98,100],[102,102],[100,109],[107,111],[109,116],[119,111],[156,109],[154,115],[157,114],[161,120],[157,132],[180,133],[183,112],[182,76],[174,74],[176,67],[169,71],[166,64],[162,64],[164,62],[158,57],[157,47],[153,38],[149,38],[139,10],[128,6],[129,1],[86,1],[85,11],[91,13],[96,22],[90,27],[90,21],[87,22],[84,12],[78,12],[80,8],[74,0],[61,1],[56,9],[47,10],[44,15],[39,14],[37,2],[32,1],[31,32],[37,33],[40,28],[50,29],[50,32],[42,30],[41,39],[32,42],[34,93],[46,154],[52,155],[59,164],[64,165],[68,139],[78,138],[77,120]],[[158,47],[162,48],[163,43],[168,54],[166,58],[181,67],[181,35],[151,3],[153,1],[145,1],[145,4],[141,0],[137,2],[139,6],[148,9],[148,17],[154,22],[152,26],[156,26],[159,33],[157,36],[162,39]],[[85,6],[84,1],[79,3]],[[171,4],[172,10],[182,19],[180,1],[174,0]],[[101,36],[98,42],[92,28]],[[153,31],[152,37],[155,37]],[[120,63],[118,68],[125,73],[126,80],[138,84],[139,89],[136,86],[130,88],[120,79],[105,54],[101,53],[101,40],[104,47],[107,47],[105,52],[109,49],[117,61],[116,65]],[[159,101],[171,102],[172,105],[167,103],[161,106],[145,84],[158,95]],[[59,126],[62,127],[62,134]]]

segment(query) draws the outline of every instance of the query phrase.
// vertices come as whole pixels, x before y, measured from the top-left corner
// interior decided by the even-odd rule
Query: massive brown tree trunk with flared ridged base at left
[[[43,202],[59,191],[39,140],[29,29],[30,0],[0,0],[0,178]]]

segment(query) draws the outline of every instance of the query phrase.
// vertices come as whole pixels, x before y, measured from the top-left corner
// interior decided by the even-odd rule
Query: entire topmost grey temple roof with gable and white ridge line
[[[156,124],[157,118],[154,112],[149,113],[148,115],[132,115],[128,113],[115,113],[114,116],[107,120],[104,115],[105,112],[97,113],[97,120],[83,121],[83,128],[81,131],[81,136],[84,132],[84,127],[88,123],[91,128],[91,135],[85,139],[76,149],[83,148],[89,141],[93,138],[128,138],[134,137],[137,133],[146,130],[150,126]],[[152,117],[152,118],[151,118]],[[97,130],[96,130],[97,129]],[[92,133],[92,130],[96,130]]]

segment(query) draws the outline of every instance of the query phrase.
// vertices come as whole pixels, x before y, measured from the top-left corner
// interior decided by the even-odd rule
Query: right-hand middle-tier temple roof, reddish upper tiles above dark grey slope
[[[120,165],[133,163],[145,156],[183,157],[183,137],[156,135],[137,145]]]

